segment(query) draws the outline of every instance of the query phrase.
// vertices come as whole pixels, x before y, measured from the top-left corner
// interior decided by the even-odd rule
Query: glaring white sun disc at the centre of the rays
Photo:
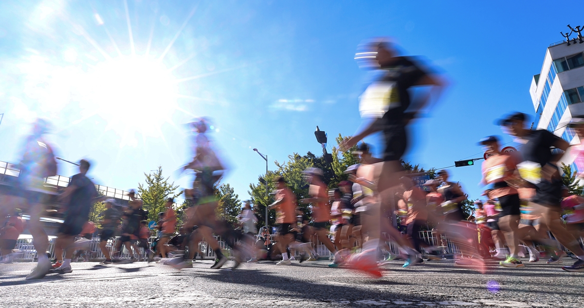
[[[86,73],[88,93],[107,121],[107,128],[135,142],[135,133],[162,136],[161,125],[171,122],[178,86],[169,70],[155,59],[118,57],[99,62]],[[123,146],[123,144],[121,145]]]

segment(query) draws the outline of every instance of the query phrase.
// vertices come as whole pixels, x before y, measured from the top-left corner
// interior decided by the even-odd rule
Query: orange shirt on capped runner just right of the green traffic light
[[[482,162],[482,178],[487,184],[499,183],[513,177],[513,171],[517,169],[515,157],[508,154],[491,156]],[[506,195],[515,195],[517,190],[511,186],[495,188],[491,191],[492,198]]]

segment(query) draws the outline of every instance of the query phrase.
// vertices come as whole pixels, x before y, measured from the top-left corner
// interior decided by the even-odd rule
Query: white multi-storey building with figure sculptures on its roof
[[[533,129],[548,129],[570,143],[580,140],[571,128],[572,117],[584,117],[584,43],[579,40],[551,44],[545,52],[540,74],[531,79],[529,89],[536,110]],[[573,155],[566,153],[564,163],[575,166]],[[584,170],[578,170],[579,172]]]

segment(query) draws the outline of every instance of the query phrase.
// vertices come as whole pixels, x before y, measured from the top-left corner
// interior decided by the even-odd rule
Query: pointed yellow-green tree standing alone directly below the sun
[[[176,198],[182,194],[182,191],[175,193],[178,185],[168,183],[168,178],[162,177],[162,167],[154,173],[146,174],[145,184],[138,183],[138,193],[144,201],[144,209],[148,211],[148,220],[158,221],[158,213],[164,212],[166,199]]]

